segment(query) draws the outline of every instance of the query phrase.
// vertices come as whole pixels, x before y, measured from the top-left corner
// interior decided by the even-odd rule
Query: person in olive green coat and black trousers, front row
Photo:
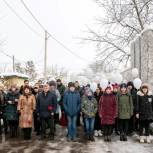
[[[129,128],[129,120],[133,115],[132,96],[127,91],[127,84],[120,85],[120,93],[118,94],[118,118],[120,140],[127,141],[127,132]]]

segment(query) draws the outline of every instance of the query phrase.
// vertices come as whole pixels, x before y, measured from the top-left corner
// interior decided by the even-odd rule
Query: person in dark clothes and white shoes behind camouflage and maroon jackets
[[[97,105],[99,106],[99,100],[102,96],[102,91],[101,91],[101,88],[98,87],[96,89],[96,91],[94,92],[94,97],[96,98],[97,100]],[[101,119],[99,117],[99,113],[98,113],[98,110],[97,110],[97,113],[96,113],[96,117],[95,117],[95,125],[94,125],[94,133],[95,133],[95,136],[102,136],[102,127],[101,127]]]

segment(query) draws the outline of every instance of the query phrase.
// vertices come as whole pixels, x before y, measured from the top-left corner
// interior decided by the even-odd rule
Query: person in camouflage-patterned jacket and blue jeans
[[[81,110],[85,118],[86,138],[94,141],[94,122],[98,105],[91,90],[85,91],[85,95],[82,97]]]

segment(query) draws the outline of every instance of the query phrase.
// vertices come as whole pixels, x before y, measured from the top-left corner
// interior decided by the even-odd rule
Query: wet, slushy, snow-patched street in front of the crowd
[[[130,137],[128,142],[120,142],[119,136],[113,136],[111,143],[105,143],[102,137],[87,142],[81,128],[78,131],[77,142],[67,142],[66,129],[61,127],[54,141],[40,141],[34,134],[30,141],[7,137],[5,140],[2,136],[0,153],[153,153],[153,144],[140,144],[136,137]]]

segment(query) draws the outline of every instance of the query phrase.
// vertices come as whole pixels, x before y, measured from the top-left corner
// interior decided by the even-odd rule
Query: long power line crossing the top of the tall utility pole
[[[83,60],[83,61],[87,61],[89,62],[89,60],[79,56],[78,54],[76,54],[75,52],[73,52],[70,48],[68,48],[66,45],[64,45],[61,41],[59,41],[58,39],[55,38],[55,36],[53,36],[51,33],[48,32],[48,30],[39,22],[39,20],[35,17],[35,15],[32,13],[32,11],[28,8],[28,6],[25,4],[25,2],[23,0],[20,0],[21,3],[23,4],[23,6],[25,7],[25,9],[31,14],[31,16],[33,17],[33,19],[39,24],[39,26],[44,30],[47,31],[48,35],[55,40],[60,46],[62,46],[67,52],[71,53],[73,56],[76,56],[77,58]]]

